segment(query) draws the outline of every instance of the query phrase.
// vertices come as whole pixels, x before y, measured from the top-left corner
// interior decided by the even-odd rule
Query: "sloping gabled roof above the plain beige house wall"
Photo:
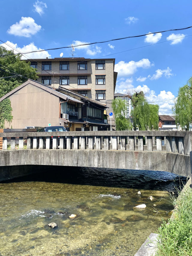
[[[28,84],[32,84],[38,88],[41,88],[42,90],[45,90],[47,91],[48,93],[51,93],[63,100],[70,100],[70,101],[73,101],[73,102],[78,102],[78,103],[84,103],[78,99],[75,99],[69,95],[66,95],[64,93],[61,93],[61,92],[58,92],[56,90],[54,90],[52,87],[49,87],[49,86],[46,86],[40,82],[37,82],[35,80],[32,80],[32,79],[28,79],[25,83],[19,85],[18,87],[16,87],[15,89],[13,89],[12,91],[10,91],[9,93],[5,94],[3,97],[0,98],[0,102],[4,99],[6,99],[7,97],[11,96],[12,94],[14,94],[15,92],[17,92],[18,90],[20,90],[21,88],[25,87],[26,85]]]

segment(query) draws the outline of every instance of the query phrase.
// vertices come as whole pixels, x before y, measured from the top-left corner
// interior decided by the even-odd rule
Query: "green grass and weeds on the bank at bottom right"
[[[159,243],[155,256],[192,255],[192,191],[184,187],[177,199],[172,198],[175,211],[168,224],[158,230]]]

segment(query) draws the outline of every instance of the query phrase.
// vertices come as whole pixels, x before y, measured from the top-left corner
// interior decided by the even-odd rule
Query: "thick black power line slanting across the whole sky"
[[[168,31],[181,31],[181,30],[190,29],[190,28],[192,28],[192,26],[188,26],[188,27],[184,27],[184,28],[178,28],[178,29],[167,29],[167,30],[162,30],[162,31],[158,31],[158,32],[150,32],[150,33],[141,34],[141,35],[126,36],[126,37],[121,37],[121,38],[109,39],[109,40],[105,40],[105,41],[97,41],[97,42],[85,43],[85,44],[76,44],[76,45],[73,45],[73,47],[84,46],[84,45],[92,45],[92,44],[102,44],[102,43],[107,43],[107,42],[117,41],[117,40],[122,40],[122,39],[127,39],[127,38],[137,38],[137,37],[142,37],[142,36],[151,35],[151,34],[164,33],[164,32],[168,32]],[[44,49],[44,50],[35,50],[35,51],[24,52],[23,54],[34,53],[34,52],[42,52],[42,51],[48,51],[48,50],[58,50],[58,49],[64,49],[64,48],[72,48],[72,46],[63,46],[63,47],[49,48],[49,49]],[[6,54],[6,55],[15,55],[15,54],[18,54],[18,53],[10,53],[10,54]],[[0,55],[0,57],[1,56],[6,56],[6,55]]]

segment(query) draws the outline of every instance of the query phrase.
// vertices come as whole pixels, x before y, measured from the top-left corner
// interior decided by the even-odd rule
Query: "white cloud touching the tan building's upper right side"
[[[130,76],[133,75],[137,68],[150,68],[153,66],[149,59],[141,59],[139,61],[133,61],[125,62],[125,61],[119,61],[117,64],[115,64],[115,71],[118,72],[118,76]]]

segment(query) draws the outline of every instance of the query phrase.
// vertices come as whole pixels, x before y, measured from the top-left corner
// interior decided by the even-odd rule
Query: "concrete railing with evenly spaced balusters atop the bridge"
[[[189,155],[189,131],[89,131],[0,133],[2,150],[67,149],[166,151]]]

